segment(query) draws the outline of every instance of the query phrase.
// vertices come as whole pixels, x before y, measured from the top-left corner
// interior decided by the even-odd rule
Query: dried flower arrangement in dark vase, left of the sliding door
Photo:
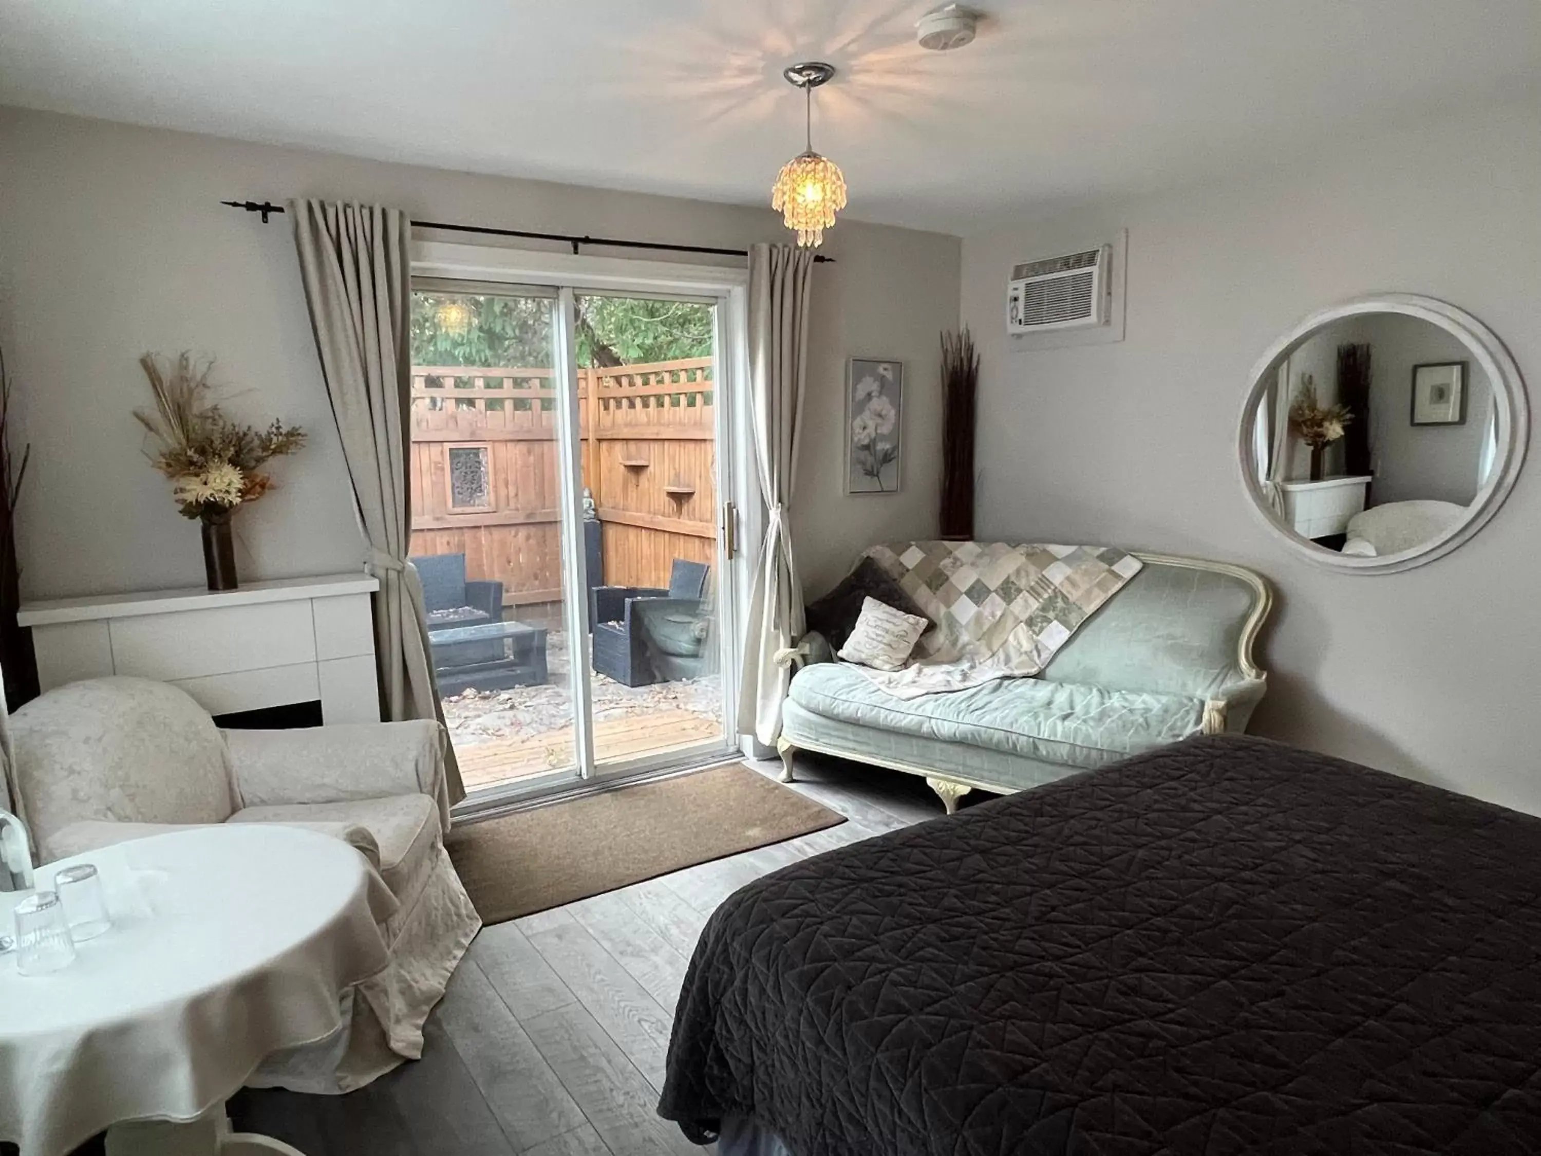
[[[149,461],[171,479],[171,496],[182,516],[203,523],[210,589],[233,589],[230,515],[274,487],[273,475],[259,467],[299,450],[305,432],[280,421],[259,430],[227,418],[210,396],[211,361],[197,362],[191,353],[180,353],[163,364],[146,353],[139,364],[156,398],[154,408],[134,410],[156,441]],[[219,533],[211,535],[211,529]],[[216,569],[228,573],[216,575]]]

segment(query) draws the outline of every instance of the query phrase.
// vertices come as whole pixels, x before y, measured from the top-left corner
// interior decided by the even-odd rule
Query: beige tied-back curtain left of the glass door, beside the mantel
[[[374,598],[374,650],[390,720],[438,718],[422,584],[407,564],[411,486],[411,222],[379,205],[290,200],[299,271],[342,456],[353,481]],[[445,743],[450,801],[465,797]]]

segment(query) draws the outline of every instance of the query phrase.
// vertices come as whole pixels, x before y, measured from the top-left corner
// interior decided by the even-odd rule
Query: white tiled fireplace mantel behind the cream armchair
[[[378,723],[374,623],[364,573],[239,590],[153,590],[25,603],[45,691],[140,675],[180,686],[214,715],[321,700],[327,723]]]

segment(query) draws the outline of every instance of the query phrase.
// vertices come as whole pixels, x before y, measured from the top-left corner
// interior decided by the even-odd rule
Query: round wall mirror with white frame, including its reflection
[[[1519,367],[1470,313],[1405,293],[1302,319],[1253,367],[1237,459],[1298,553],[1350,573],[1422,566],[1475,535],[1524,462]]]

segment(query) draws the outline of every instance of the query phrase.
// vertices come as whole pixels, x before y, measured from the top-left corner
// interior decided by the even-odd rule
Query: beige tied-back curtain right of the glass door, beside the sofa
[[[812,270],[811,250],[749,250],[749,388],[766,536],[749,596],[738,731],[766,746],[781,734],[781,700],[791,680],[791,669],[775,655],[804,629],[791,506],[806,393]]]

